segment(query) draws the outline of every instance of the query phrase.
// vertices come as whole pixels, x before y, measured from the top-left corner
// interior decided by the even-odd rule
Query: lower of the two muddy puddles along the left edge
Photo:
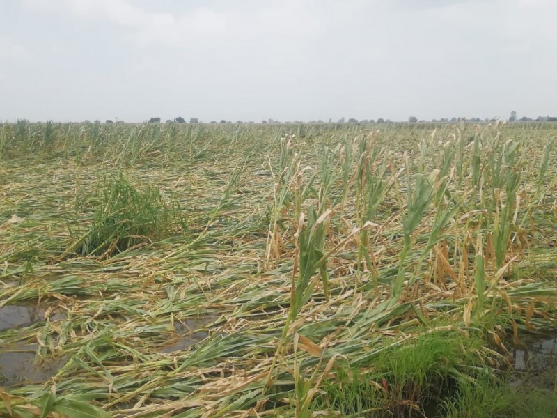
[[[10,387],[24,382],[47,382],[68,361],[67,357],[36,359],[37,344],[20,344],[0,352],[0,386]]]

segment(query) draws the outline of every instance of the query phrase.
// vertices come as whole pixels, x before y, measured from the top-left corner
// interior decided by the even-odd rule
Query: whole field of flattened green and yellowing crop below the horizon
[[[0,415],[554,416],[556,128],[377,127],[1,125]]]

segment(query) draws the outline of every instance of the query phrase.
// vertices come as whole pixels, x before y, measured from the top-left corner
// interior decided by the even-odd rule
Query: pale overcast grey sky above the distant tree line
[[[0,121],[557,116],[554,0],[2,0]]]

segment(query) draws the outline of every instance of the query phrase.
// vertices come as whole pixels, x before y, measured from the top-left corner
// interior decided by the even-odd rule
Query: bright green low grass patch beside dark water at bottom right
[[[439,389],[448,394],[456,382],[465,380],[459,369],[479,362],[481,343],[464,333],[436,332],[382,350],[361,364],[338,363],[313,409],[343,416],[423,416],[423,408],[439,398]]]

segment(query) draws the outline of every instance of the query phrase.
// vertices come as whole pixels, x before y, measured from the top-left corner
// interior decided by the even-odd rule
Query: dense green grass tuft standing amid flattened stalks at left
[[[156,187],[136,189],[122,174],[104,180],[93,201],[93,224],[77,247],[81,255],[110,256],[167,238],[186,227],[177,202],[166,199]]]

